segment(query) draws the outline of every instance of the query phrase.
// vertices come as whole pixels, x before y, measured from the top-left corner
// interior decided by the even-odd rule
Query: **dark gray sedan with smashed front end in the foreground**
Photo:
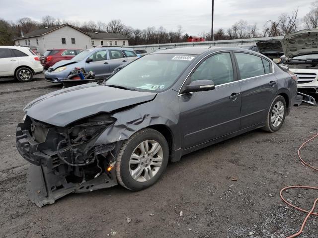
[[[256,52],[189,47],[44,95],[24,108],[16,130],[32,163],[28,195],[41,207],[118,183],[147,188],[187,153],[255,128],[277,131],[296,90],[293,73]]]

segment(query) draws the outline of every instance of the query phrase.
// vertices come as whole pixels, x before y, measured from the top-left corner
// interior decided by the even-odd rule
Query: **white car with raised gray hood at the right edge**
[[[318,29],[305,29],[285,35],[285,59],[280,66],[298,76],[298,91],[318,93]]]

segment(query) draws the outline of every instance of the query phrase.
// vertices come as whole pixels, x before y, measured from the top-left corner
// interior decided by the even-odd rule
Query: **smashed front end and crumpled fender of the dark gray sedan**
[[[162,98],[157,97],[156,101],[160,102]],[[55,118],[59,123],[54,125],[49,123],[52,118],[40,121],[41,116],[35,115],[35,110],[31,113],[28,110],[25,121],[17,127],[16,147],[22,157],[33,164],[27,183],[31,201],[42,207],[72,192],[117,185],[112,168],[118,151],[124,140],[146,127],[164,126],[171,132],[171,159],[178,161],[181,157],[181,145],[178,144],[181,139],[175,138],[180,136],[176,126],[178,104],[136,102],[66,125],[61,125],[63,121],[59,117]]]

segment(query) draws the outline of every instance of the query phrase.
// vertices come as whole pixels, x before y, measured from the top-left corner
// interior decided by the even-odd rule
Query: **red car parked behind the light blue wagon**
[[[61,60],[71,60],[73,57],[81,53],[79,49],[52,49],[47,50],[41,57],[41,64],[44,69],[48,69],[53,64]]]

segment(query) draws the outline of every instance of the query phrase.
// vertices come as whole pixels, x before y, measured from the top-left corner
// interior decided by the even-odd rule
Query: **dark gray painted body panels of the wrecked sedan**
[[[174,150],[187,150],[213,141],[253,125],[265,123],[271,100],[280,92],[288,96],[288,105],[296,96],[296,82],[278,66],[271,74],[219,85],[214,90],[178,95],[181,85],[191,70],[205,57],[225,51],[239,51],[263,55],[237,48],[192,47],[164,50],[153,54],[184,52],[201,54],[167,91],[146,93],[109,88],[103,85],[82,85],[74,90],[54,92],[35,100],[28,116],[50,124],[65,126],[78,119],[131,106],[113,114],[115,124],[97,139],[96,145],[129,138],[136,131],[151,126],[165,125],[174,138]],[[203,52],[203,53],[202,53]],[[232,56],[233,57],[233,56]],[[271,61],[273,64],[273,62]],[[234,65],[234,67],[237,67]],[[236,70],[236,68],[235,68]],[[271,81],[276,81],[270,86]],[[66,93],[68,92],[68,93]],[[235,101],[229,97],[240,93]],[[141,104],[143,102],[147,102]],[[141,104],[134,106],[136,104]],[[244,130],[245,131],[245,130]],[[181,153],[180,153],[181,154]]]

